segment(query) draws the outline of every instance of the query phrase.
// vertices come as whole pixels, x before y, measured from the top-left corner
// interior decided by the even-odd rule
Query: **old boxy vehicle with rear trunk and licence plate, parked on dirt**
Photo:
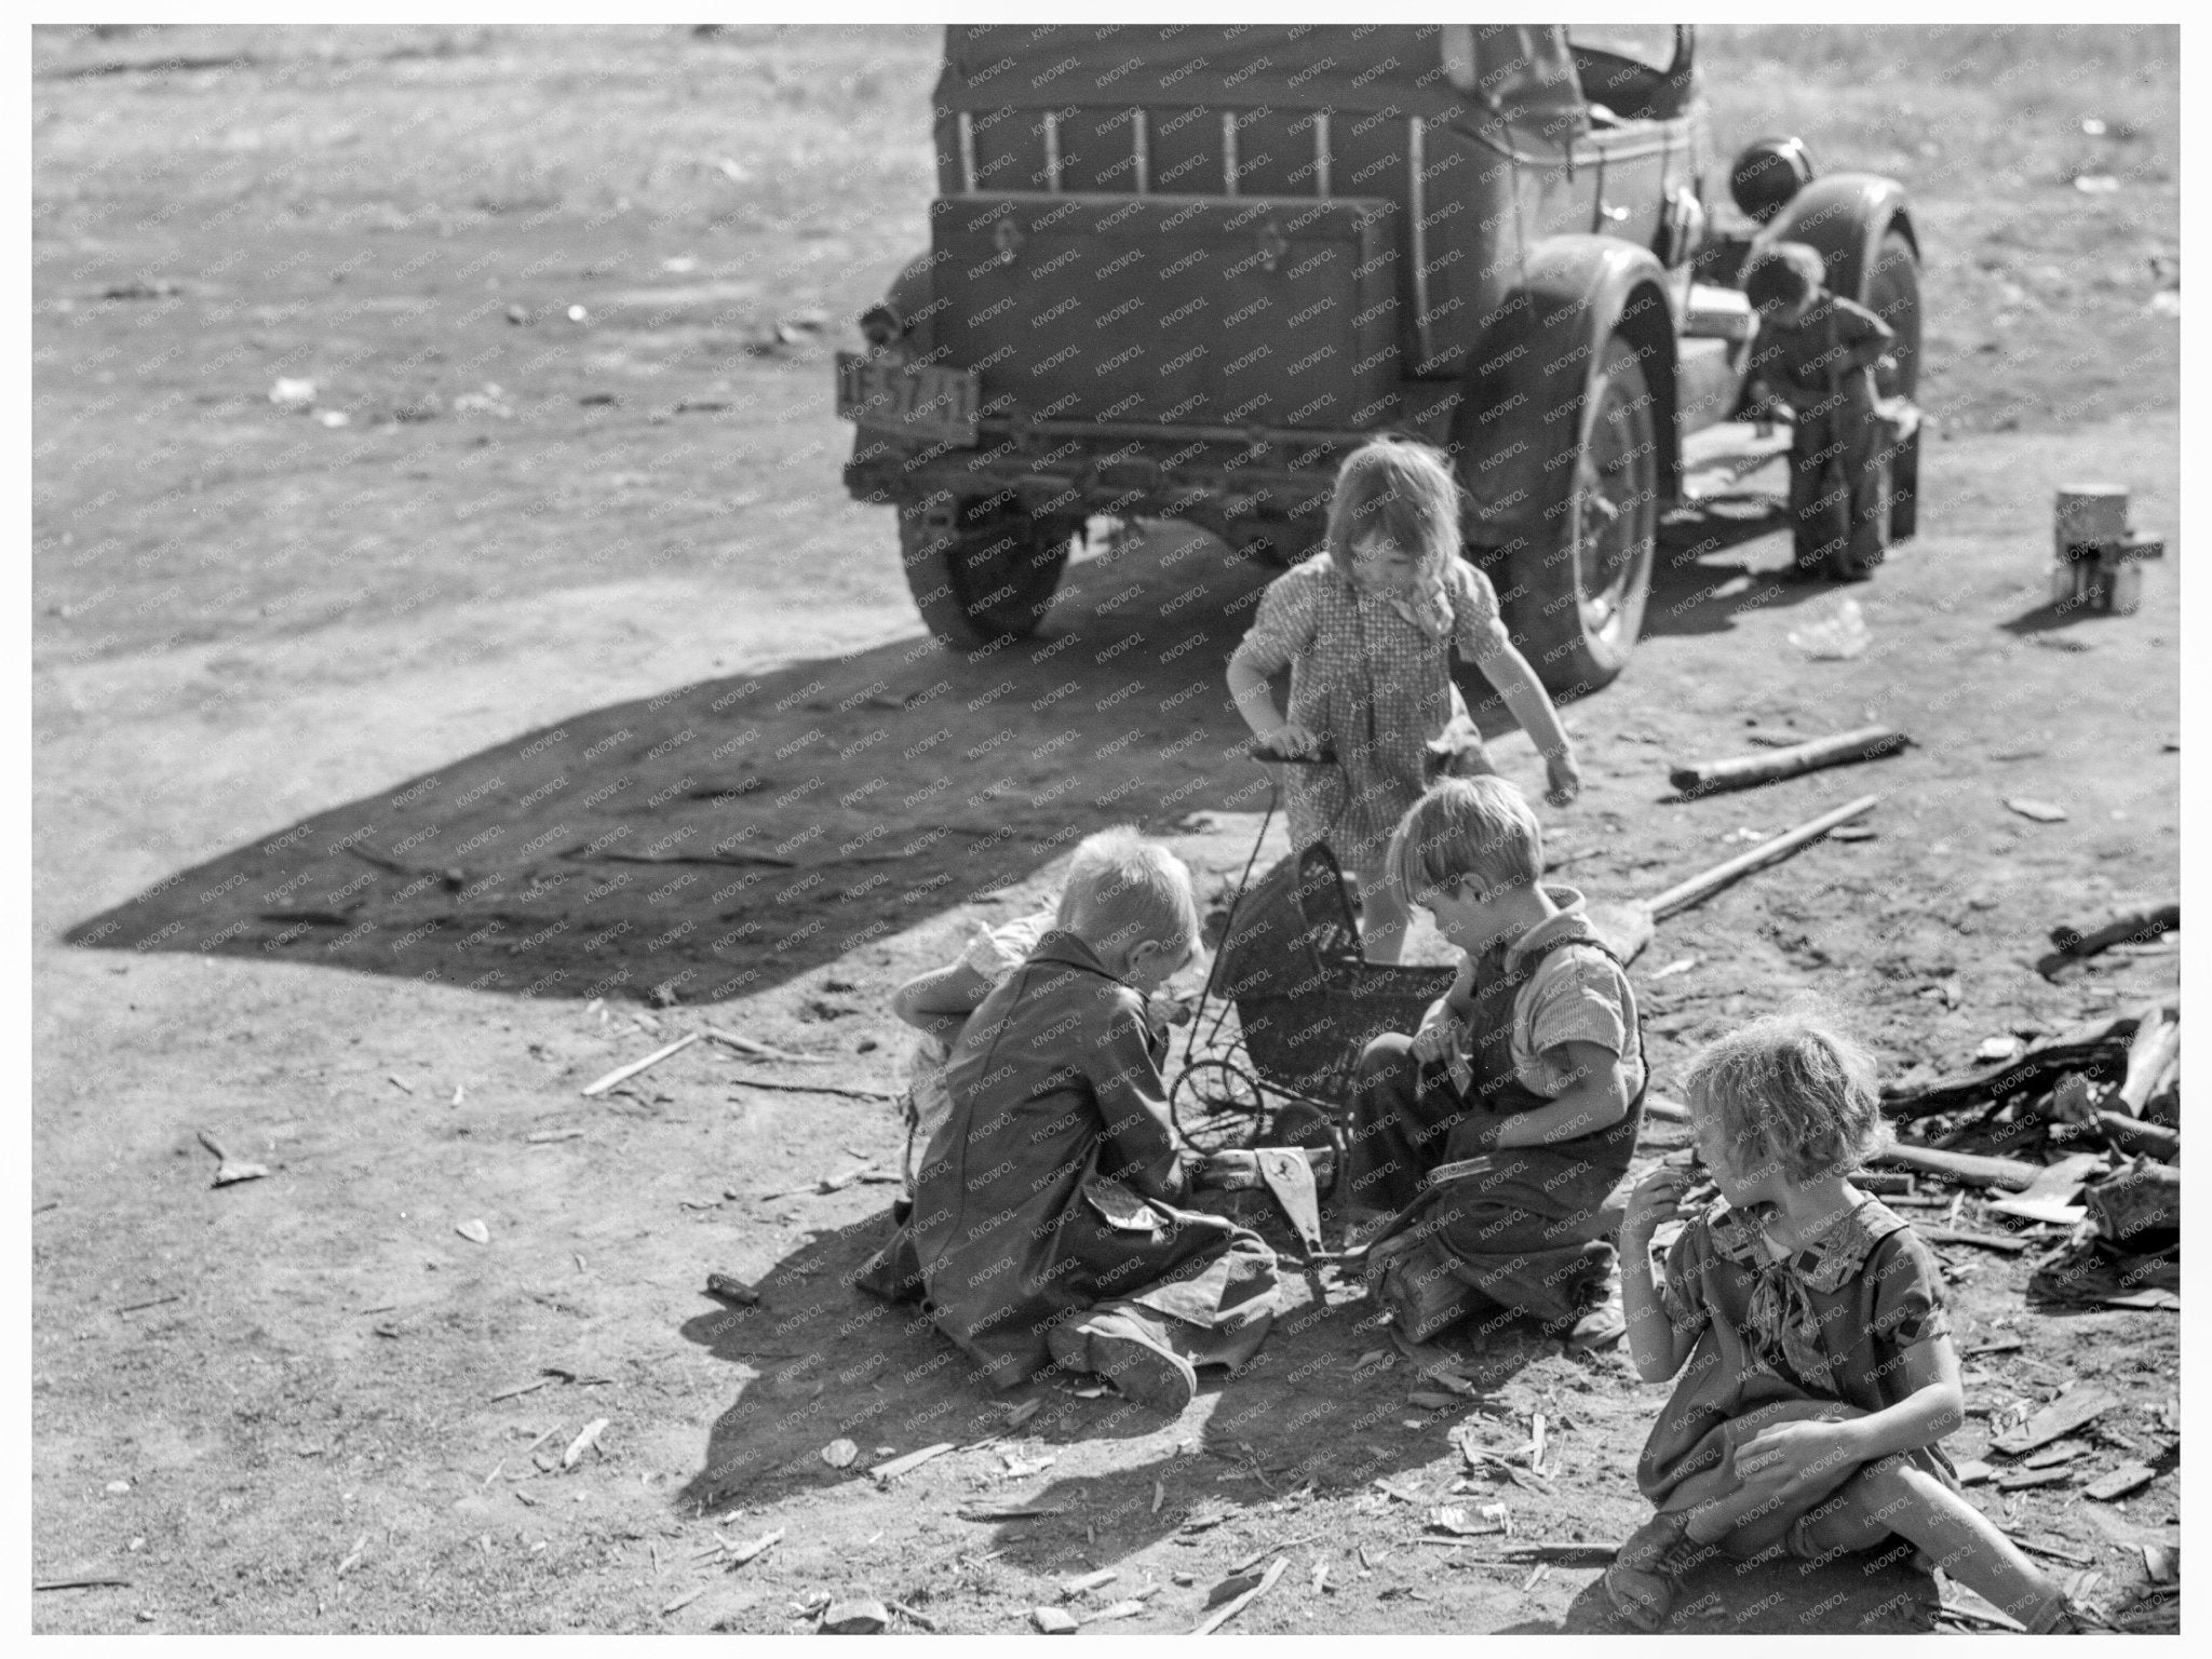
[[[956,648],[1031,633],[1091,515],[1287,564],[1396,431],[1453,456],[1467,557],[1571,697],[1637,641],[1686,460],[1752,431],[1759,239],[1818,248],[1898,332],[1880,389],[1916,383],[1905,190],[1765,139],[1723,230],[1686,27],[953,27],[936,148],[929,250],[836,396]],[[1911,438],[1891,540],[1916,482]]]

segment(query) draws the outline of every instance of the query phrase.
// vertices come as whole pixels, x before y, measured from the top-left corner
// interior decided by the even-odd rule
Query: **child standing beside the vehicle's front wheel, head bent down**
[[[1743,296],[1759,312],[1747,396],[1783,403],[1790,422],[1790,526],[1796,568],[1865,580],[1880,564],[1889,502],[1880,487],[1874,365],[1896,332],[1825,288],[1827,265],[1803,241],[1752,259]]]

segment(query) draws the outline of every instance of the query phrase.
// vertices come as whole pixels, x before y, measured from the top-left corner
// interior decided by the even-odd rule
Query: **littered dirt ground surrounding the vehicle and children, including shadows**
[[[876,1595],[1011,1632],[1115,1568],[1073,1606],[1152,1586],[1099,1628],[1188,1630],[1230,1566],[1276,1551],[1287,1575],[1234,1628],[1615,1628],[1595,1566],[1420,1540],[1436,1504],[1500,1500],[1515,1542],[1626,1535],[1663,1391],[1624,1356],[1506,1332],[1460,1354],[1475,1398],[1425,1407],[1433,1385],[1352,1285],[1292,1279],[1261,1358],[1164,1422],[1064,1387],[987,1398],[838,1283],[894,1188],[807,1188],[898,1164],[889,987],[1048,896],[1075,834],[1135,818],[1214,891],[1265,807],[1219,686],[1263,573],[1175,526],[1102,526],[1037,639],[960,659],[914,619],[889,515],[838,495],[843,323],[794,343],[774,323],[872,294],[898,230],[872,208],[920,221],[931,42],[838,46],[836,82],[827,49],[664,31],[611,53],[606,95],[677,88],[666,135],[754,86],[754,126],[591,181],[573,53],[414,31],[349,71],[248,35],[55,38],[35,84],[33,1566],[128,1579],[38,1595],[35,1628],[776,1632],[812,1628],[823,1595]],[[190,62],[95,73],[164,55]],[[639,62],[659,80],[624,80]],[[429,97],[456,84],[566,86],[573,131],[500,150],[504,175],[460,168],[449,208],[345,161],[396,142],[380,111],[456,119]],[[843,124],[838,97],[894,106],[905,148]],[[217,161],[164,170],[164,133]],[[407,142],[418,173],[438,137]],[[226,155],[263,159],[232,175]],[[1949,234],[2088,248],[2117,212],[2172,246],[2170,181],[2132,166],[2117,208],[2044,179]],[[801,186],[838,170],[849,204],[801,234]],[[157,217],[164,197],[190,221]],[[252,212],[204,223],[232,197]],[[1920,540],[1849,591],[1863,655],[1790,644],[1840,595],[1772,577],[1770,471],[1668,526],[1644,644],[1571,710],[1588,787],[1542,816],[1593,898],[1882,794],[1871,838],[1659,927],[1635,978],[1661,1091],[1701,1040],[1803,993],[1905,1073],[2179,984],[2174,949],[2064,984],[2031,969],[2053,925],[2179,887],[2177,555],[2132,617],[2044,606],[2055,482],[2126,482],[2137,524],[2179,524],[2174,325],[2148,283],[2095,299],[2095,261],[2062,261],[2079,288],[2037,305],[2106,345],[2101,400],[2046,396],[2064,358],[2020,349],[2031,307],[1982,352],[1986,312],[1960,296],[1929,392],[1958,418],[1927,445]],[[276,376],[316,378],[347,422],[272,405]],[[1869,719],[1913,748],[1699,801],[1666,781]],[[1540,794],[1526,739],[1495,752]],[[580,1095],[703,1024],[836,1064],[699,1042]],[[270,1175],[210,1188],[204,1135]],[[1679,1139],[1655,1126],[1646,1150]],[[1971,1197],[1964,1221],[2004,1225]],[[2179,1542],[2179,1471],[2117,1504],[2079,1484],[2177,1440],[2177,1316],[2031,1310],[2037,1254],[1942,1250],[1962,1345],[2022,1338],[1969,1358],[1951,1444],[1978,1455],[1991,1418],[2066,1380],[2115,1389],[2070,1484],[1975,1495],[2121,1606],[2139,1544]],[[710,1270],[761,1305],[703,1296]],[[1455,1493],[1447,1436],[1471,1420],[1513,1451],[1533,1411],[1553,1489]],[[847,1469],[818,1455],[838,1438]],[[938,1442],[960,1449],[865,1473]],[[708,1555],[774,1531],[732,1571]],[[1929,1604],[1893,1562],[1721,1566],[1683,1628],[1918,1630]]]

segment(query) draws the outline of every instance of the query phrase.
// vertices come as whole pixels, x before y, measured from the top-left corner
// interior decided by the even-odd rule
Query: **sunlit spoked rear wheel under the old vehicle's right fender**
[[[1506,630],[1553,699],[1584,697],[1628,661],[1659,540],[1659,440],[1637,349],[1606,336],[1582,398],[1566,511],[1515,560]],[[1489,697],[1489,686],[1467,686]]]

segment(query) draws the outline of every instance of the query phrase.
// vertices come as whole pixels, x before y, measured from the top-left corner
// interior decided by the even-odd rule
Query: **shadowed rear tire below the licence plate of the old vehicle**
[[[1037,630],[1082,520],[1020,507],[902,504],[898,553],[929,633],[951,650],[1002,646]]]

